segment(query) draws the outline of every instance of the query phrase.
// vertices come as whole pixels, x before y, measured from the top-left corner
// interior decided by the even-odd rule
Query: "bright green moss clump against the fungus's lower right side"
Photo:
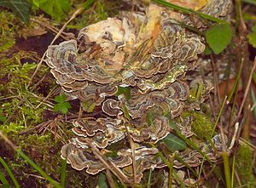
[[[213,122],[201,111],[183,111],[182,117],[192,117],[191,130],[200,139],[209,140],[213,130]]]

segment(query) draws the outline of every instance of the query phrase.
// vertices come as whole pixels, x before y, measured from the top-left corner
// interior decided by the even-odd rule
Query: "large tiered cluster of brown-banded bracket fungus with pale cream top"
[[[224,17],[231,4],[230,0],[205,2],[188,7]],[[73,121],[76,137],[61,150],[61,157],[73,168],[97,174],[107,168],[107,162],[120,168],[128,180],[139,182],[144,170],[166,166],[158,155],[158,145],[168,134],[175,134],[170,122],[177,123],[183,136],[195,135],[193,119],[180,117],[183,111],[200,110],[201,103],[188,102],[191,85],[184,77],[195,69],[198,55],[205,49],[202,37],[180,25],[193,21],[188,15],[149,3],[143,11],[86,26],[77,40],[49,46],[46,62],[56,82],[70,99],[99,106],[104,113]],[[196,22],[199,29],[204,27],[201,20]],[[117,96],[119,88],[129,88],[129,97]],[[204,94],[210,88],[206,87]],[[206,140],[198,141],[212,161],[218,158],[216,151],[222,150],[219,138],[219,134],[212,138],[217,150]],[[189,146],[176,155],[191,167],[200,165],[203,158]],[[182,168],[183,162],[175,160],[174,167]]]

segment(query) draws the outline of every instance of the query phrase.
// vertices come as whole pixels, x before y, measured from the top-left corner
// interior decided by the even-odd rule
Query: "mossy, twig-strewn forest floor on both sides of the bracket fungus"
[[[71,122],[78,117],[80,106],[78,100],[70,100],[65,102],[72,106],[71,109],[67,105],[61,105],[60,109],[54,110],[58,105],[55,97],[61,96],[61,87],[55,83],[55,77],[42,61],[45,51],[56,35],[59,37],[54,44],[59,44],[77,37],[79,30],[84,26],[113,17],[119,14],[119,10],[132,9],[121,1],[91,2],[90,6],[79,12],[67,24],[64,31],[61,31],[61,27],[81,7],[83,1],[70,1],[70,8],[65,10],[62,7],[60,15],[50,14],[45,11],[44,6],[39,9],[33,4],[28,23],[22,22],[10,9],[0,7],[0,187],[55,187],[55,183],[49,179],[61,182],[63,170],[66,172],[65,187],[114,185],[111,182],[107,183],[105,175],[100,175],[99,178],[99,175],[86,174],[85,170],[78,171],[70,165],[66,167],[65,160],[61,159],[61,147],[73,138]],[[223,161],[227,158],[223,157],[218,162],[205,162],[203,168],[194,169],[197,173],[202,169],[201,177],[191,179],[201,179],[200,186],[205,187],[228,187],[229,183],[225,179],[227,170],[230,170],[230,187],[256,186],[256,74],[252,71],[253,65],[256,65],[256,5],[245,1],[239,7],[237,2],[240,1],[236,1],[231,13],[235,33],[232,42],[223,53],[204,56],[213,62],[212,72],[208,72],[212,74],[212,83],[215,82],[211,97],[212,101],[216,102],[216,114],[212,121],[215,122],[217,119],[218,111],[223,111],[220,114],[218,129],[223,129],[229,140],[235,139],[235,145],[227,152],[228,163],[224,164]],[[241,8],[241,17],[236,15],[237,7]],[[247,37],[249,33],[251,36],[254,35],[251,41]],[[225,67],[221,68],[232,71],[232,76],[216,81],[215,78],[221,74],[216,70],[219,68],[216,66],[219,60],[230,60],[231,65],[224,65]],[[39,62],[42,62],[42,65]],[[226,95],[232,97],[228,99],[228,105]],[[210,103],[208,100],[207,102]],[[99,109],[96,107],[94,112],[97,110]],[[85,112],[84,115],[86,116]],[[237,129],[235,124],[232,124],[234,119],[239,124]],[[36,162],[37,167],[41,168],[49,179],[45,178],[38,168],[32,166],[28,159],[24,159],[22,154]],[[163,174],[172,170],[154,170],[152,177],[152,172],[148,170],[144,174],[142,184],[137,187],[161,187],[166,178]],[[183,170],[187,173],[190,168]],[[151,177],[150,184],[148,177]],[[14,179],[18,183],[15,183]],[[113,180],[119,182],[118,179]],[[123,187],[118,183],[115,186]]]

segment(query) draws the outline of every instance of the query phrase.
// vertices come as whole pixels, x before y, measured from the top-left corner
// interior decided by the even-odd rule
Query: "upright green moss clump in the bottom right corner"
[[[248,145],[240,145],[236,152],[236,172],[244,187],[255,187],[256,181],[253,175],[253,150]],[[238,181],[236,180],[236,185]]]

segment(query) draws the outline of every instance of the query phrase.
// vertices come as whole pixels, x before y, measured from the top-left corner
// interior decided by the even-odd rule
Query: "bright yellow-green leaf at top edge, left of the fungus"
[[[33,3],[57,21],[71,9],[69,0],[33,0]]]

